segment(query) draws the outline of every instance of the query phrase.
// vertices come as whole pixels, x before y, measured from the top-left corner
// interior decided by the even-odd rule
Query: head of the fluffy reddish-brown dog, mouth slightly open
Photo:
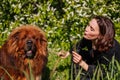
[[[25,25],[14,29],[8,38],[8,53],[33,59],[36,55],[47,55],[47,40],[37,26]]]

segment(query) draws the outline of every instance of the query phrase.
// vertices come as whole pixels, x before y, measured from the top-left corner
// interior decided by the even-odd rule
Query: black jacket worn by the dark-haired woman
[[[106,67],[108,67],[109,63],[112,61],[113,56],[118,62],[120,62],[120,44],[115,39],[112,48],[106,52],[99,52],[92,49],[92,42],[90,40],[83,38],[76,44],[76,51],[89,65],[88,71],[86,73],[90,75],[93,75],[96,67],[99,64],[104,64]]]

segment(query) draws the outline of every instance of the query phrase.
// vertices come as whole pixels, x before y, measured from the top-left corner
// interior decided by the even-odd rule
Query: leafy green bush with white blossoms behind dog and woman
[[[69,50],[82,37],[84,28],[93,15],[109,16],[115,23],[116,39],[120,41],[119,0],[2,0],[0,45],[14,28],[22,24],[40,26],[48,39],[47,66],[52,71],[58,60],[56,53],[62,49]],[[68,80],[69,66],[70,58],[59,60],[52,77]]]

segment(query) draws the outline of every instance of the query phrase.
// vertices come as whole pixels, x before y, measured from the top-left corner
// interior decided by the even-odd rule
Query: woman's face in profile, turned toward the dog
[[[87,27],[85,28],[85,32],[83,37],[88,40],[95,40],[98,38],[100,32],[99,32],[99,26],[97,24],[97,21],[95,19],[92,19]]]

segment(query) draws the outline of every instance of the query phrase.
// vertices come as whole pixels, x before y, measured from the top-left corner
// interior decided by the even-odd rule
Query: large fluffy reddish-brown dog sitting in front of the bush
[[[0,79],[30,80],[32,70],[34,79],[40,80],[47,55],[47,40],[40,28],[24,25],[14,29],[0,49]]]

